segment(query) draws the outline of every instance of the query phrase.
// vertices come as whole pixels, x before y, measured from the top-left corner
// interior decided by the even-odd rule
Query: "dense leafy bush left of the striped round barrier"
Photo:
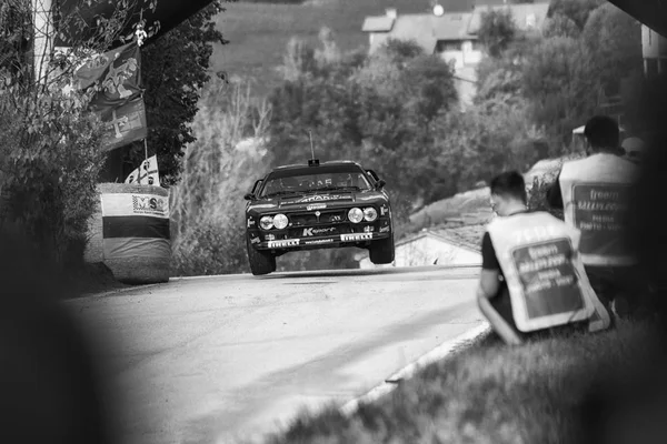
[[[39,94],[37,105],[28,94],[13,99],[0,98],[3,222],[20,225],[57,262],[81,262],[102,165],[99,122],[61,92]]]

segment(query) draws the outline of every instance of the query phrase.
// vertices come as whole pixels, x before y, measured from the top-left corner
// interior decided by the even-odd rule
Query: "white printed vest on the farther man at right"
[[[584,264],[625,266],[636,262],[625,245],[623,226],[637,171],[627,159],[607,153],[563,165],[559,181],[565,222],[581,232]]]

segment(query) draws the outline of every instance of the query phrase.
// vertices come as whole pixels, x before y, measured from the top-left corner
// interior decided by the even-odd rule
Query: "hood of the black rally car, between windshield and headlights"
[[[385,195],[378,191],[360,191],[360,192],[326,192],[326,193],[308,193],[303,195],[287,195],[276,199],[260,200],[250,205],[249,210],[310,210],[321,209],[326,206],[349,205],[357,203],[370,203],[372,201],[386,200]]]

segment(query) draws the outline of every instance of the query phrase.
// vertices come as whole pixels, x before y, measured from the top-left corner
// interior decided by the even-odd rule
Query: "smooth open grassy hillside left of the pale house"
[[[498,2],[486,0],[485,2]],[[277,85],[280,75],[276,67],[282,63],[285,48],[292,36],[313,43],[322,27],[329,27],[344,50],[368,47],[368,36],[361,32],[367,16],[381,16],[386,8],[399,13],[429,10],[428,0],[320,0],[316,4],[271,4],[238,2],[227,4],[218,18],[218,29],[231,43],[217,46],[211,61],[215,70],[231,75],[252,77],[256,93],[266,94]],[[449,10],[468,10],[472,0],[442,1]],[[478,3],[481,3],[478,1]]]

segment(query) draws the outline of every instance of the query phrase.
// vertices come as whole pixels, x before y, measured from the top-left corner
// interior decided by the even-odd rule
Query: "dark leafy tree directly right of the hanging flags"
[[[222,1],[215,0],[142,50],[148,150],[149,155],[158,154],[165,185],[178,181],[183,150],[195,141],[191,122],[198,111],[201,88],[210,79],[212,43],[228,43],[213,21],[221,11]],[[143,143],[136,142],[122,150],[129,173],[145,158]]]

